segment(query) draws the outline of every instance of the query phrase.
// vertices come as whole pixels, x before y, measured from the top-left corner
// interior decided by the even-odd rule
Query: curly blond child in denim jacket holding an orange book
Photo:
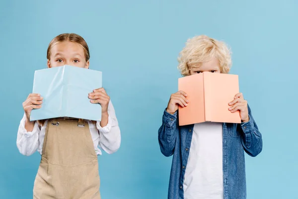
[[[231,66],[226,45],[207,36],[189,39],[178,61],[183,76],[228,73]],[[262,151],[262,135],[247,101],[240,93],[229,102],[231,112],[240,111],[241,124],[179,126],[178,106],[188,103],[185,92],[172,94],[158,130],[161,153],[173,155],[168,199],[245,199],[244,151],[253,157]]]

